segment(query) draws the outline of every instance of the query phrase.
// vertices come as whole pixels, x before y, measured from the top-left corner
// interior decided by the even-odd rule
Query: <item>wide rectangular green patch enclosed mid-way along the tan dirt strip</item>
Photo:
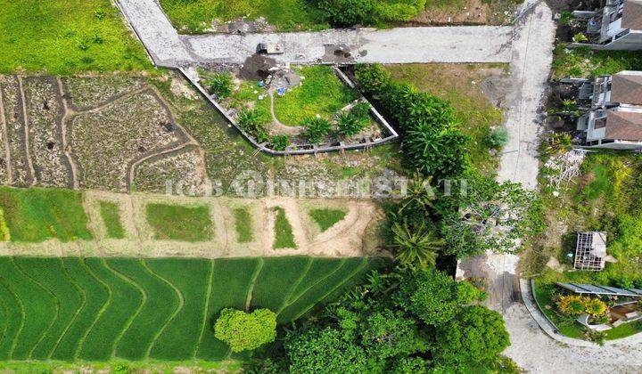
[[[203,241],[210,240],[213,235],[208,206],[148,204],[146,213],[147,223],[158,240]]]

